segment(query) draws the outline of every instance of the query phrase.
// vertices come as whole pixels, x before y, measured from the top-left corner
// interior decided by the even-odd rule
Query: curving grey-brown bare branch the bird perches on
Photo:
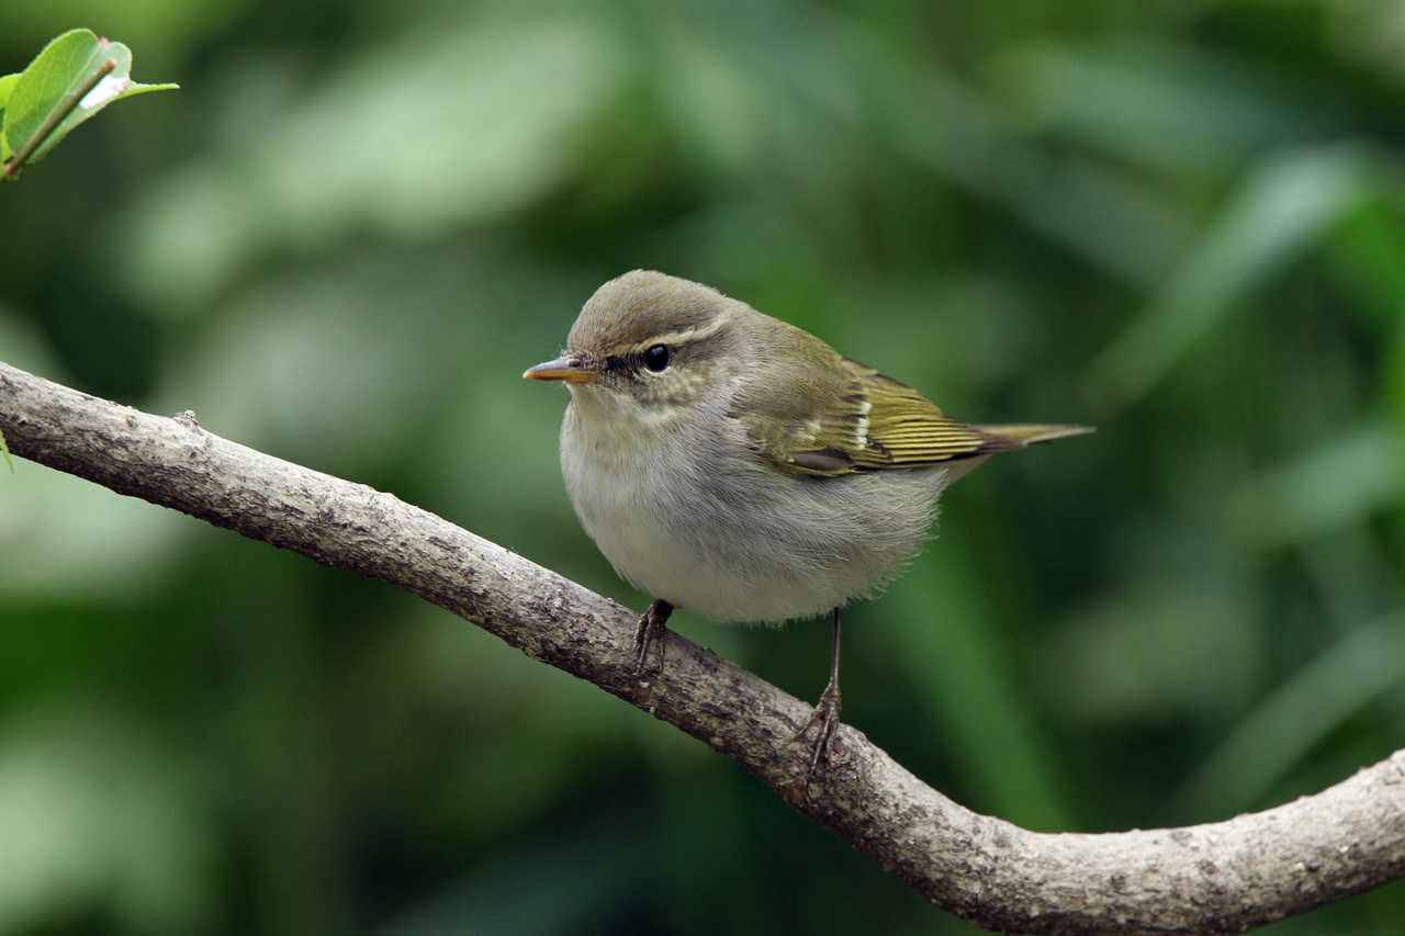
[[[395,496],[0,364],[17,455],[318,562],[384,579],[728,755],[797,811],[981,926],[1038,933],[1214,933],[1301,914],[1405,876],[1405,750],[1314,797],[1227,822],[1047,835],[978,815],[842,727],[806,793],[788,743],[809,706],[667,635],[634,673],[635,614]],[[3,492],[0,492],[3,496]]]

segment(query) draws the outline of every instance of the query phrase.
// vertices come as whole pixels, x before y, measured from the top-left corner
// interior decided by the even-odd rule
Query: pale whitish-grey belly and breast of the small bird
[[[946,469],[804,478],[673,427],[641,434],[568,410],[561,457],[586,533],[652,597],[718,621],[828,613],[887,585],[927,537]]]

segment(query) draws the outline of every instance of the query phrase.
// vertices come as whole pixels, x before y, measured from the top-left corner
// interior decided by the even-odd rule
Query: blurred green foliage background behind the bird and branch
[[[0,191],[0,360],[392,490],[634,607],[518,379],[601,281],[743,298],[1000,458],[844,720],[1034,829],[1405,736],[1405,4],[11,0],[124,103]],[[0,932],[971,933],[438,609],[0,471]],[[812,700],[822,623],[681,632]],[[1272,928],[1399,933],[1402,884]]]

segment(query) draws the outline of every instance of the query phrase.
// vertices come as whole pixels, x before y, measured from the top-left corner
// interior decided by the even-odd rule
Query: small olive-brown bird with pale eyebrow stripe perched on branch
[[[991,455],[1092,431],[971,424],[722,292],[634,270],[523,374],[569,391],[561,469],[586,534],[646,592],[634,663],[674,609],[717,623],[830,618],[806,786],[839,725],[843,609],[920,551],[941,493]]]

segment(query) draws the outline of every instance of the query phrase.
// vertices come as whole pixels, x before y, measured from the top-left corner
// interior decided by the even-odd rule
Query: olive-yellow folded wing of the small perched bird
[[[833,367],[781,378],[790,392],[747,401],[739,419],[759,453],[792,474],[917,468],[1027,443],[951,419],[906,384],[839,354]]]

